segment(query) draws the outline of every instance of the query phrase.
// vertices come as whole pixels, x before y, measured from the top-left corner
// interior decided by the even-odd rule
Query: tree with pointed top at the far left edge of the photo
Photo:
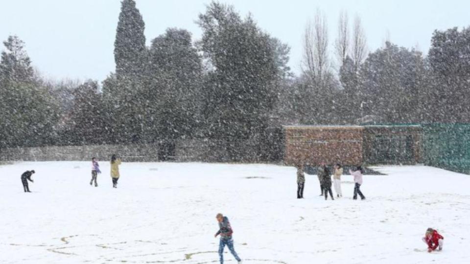
[[[24,42],[10,36],[0,61],[0,148],[51,144],[58,104],[34,75]]]

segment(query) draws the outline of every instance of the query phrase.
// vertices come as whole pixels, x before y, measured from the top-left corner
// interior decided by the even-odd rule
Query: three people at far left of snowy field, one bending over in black
[[[121,165],[121,160],[116,156],[116,154],[113,154],[111,156],[111,178],[113,180],[113,188],[118,188],[118,179],[119,179],[119,165]],[[31,176],[35,173],[34,170],[31,171],[25,171],[21,175],[21,182],[23,183],[23,189],[25,193],[30,193],[31,191],[29,190],[29,185],[28,181],[34,182],[33,179],[31,179]],[[98,161],[96,160],[95,157],[92,158],[92,179],[90,180],[90,185],[95,187],[98,187],[98,182],[97,182],[97,177],[98,174],[100,174],[101,171],[99,170],[99,164]]]

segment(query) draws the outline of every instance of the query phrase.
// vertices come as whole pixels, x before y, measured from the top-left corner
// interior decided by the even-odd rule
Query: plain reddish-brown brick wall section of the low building
[[[362,164],[363,127],[286,126],[284,163]]]

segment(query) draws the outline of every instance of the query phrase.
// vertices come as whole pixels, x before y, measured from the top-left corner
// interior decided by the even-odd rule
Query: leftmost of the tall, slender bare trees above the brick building
[[[317,9],[314,21],[307,22],[304,35],[304,72],[320,82],[328,72],[327,19]]]

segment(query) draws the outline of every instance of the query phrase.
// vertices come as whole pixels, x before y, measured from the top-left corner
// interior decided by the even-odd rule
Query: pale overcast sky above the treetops
[[[145,22],[147,44],[167,27],[186,28],[198,39],[194,23],[210,0],[136,0]],[[290,66],[300,71],[305,23],[320,8],[328,18],[330,44],[341,10],[362,19],[368,50],[386,36],[396,44],[427,53],[432,32],[470,24],[470,1],[463,0],[221,0],[291,47]],[[18,35],[33,65],[47,78],[102,81],[114,71],[114,39],[120,0],[0,0],[0,39]],[[351,23],[351,22],[350,22]],[[389,33],[387,33],[389,32]],[[3,48],[3,46],[2,46]],[[330,48],[334,59],[332,46]]]

